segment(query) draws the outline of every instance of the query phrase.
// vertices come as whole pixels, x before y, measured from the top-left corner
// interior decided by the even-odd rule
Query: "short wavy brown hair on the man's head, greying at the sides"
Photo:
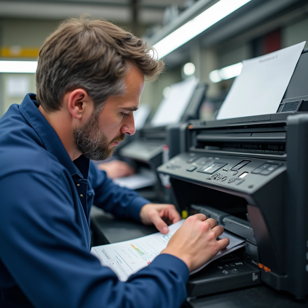
[[[164,63],[154,55],[142,39],[111,22],[69,18],[39,51],[37,101],[46,111],[56,111],[65,93],[83,88],[98,109],[109,96],[124,93],[124,76],[132,64],[145,80],[157,79]]]

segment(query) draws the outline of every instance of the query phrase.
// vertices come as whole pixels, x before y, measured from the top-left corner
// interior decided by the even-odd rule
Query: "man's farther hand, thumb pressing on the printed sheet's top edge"
[[[168,225],[181,220],[180,214],[172,204],[145,204],[139,213],[145,225],[155,225],[158,231],[168,233]]]

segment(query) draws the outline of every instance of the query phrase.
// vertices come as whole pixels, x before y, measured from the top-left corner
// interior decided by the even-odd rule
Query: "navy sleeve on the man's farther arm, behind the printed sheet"
[[[91,161],[88,180],[95,191],[94,205],[116,217],[140,220],[140,209],[151,203],[135,191],[114,184],[106,172],[98,170]]]

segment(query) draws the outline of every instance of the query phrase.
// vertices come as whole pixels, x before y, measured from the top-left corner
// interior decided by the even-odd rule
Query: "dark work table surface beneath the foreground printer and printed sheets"
[[[104,245],[157,232],[154,226],[145,226],[133,220],[115,219],[95,206],[91,209],[93,245]],[[308,308],[308,297],[296,301],[290,294],[276,291],[264,284],[237,289],[201,298],[188,298],[184,307],[189,308]],[[172,308],[172,307],[171,307]]]

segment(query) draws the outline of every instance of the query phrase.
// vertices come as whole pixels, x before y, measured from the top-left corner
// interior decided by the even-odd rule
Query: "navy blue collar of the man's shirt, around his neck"
[[[89,159],[81,155],[74,160],[74,162],[71,160],[58,134],[39,111],[38,107],[36,94],[28,93],[19,105],[19,110],[39,135],[46,150],[54,155],[59,162],[67,168],[71,176],[77,175],[80,178],[87,179]]]

